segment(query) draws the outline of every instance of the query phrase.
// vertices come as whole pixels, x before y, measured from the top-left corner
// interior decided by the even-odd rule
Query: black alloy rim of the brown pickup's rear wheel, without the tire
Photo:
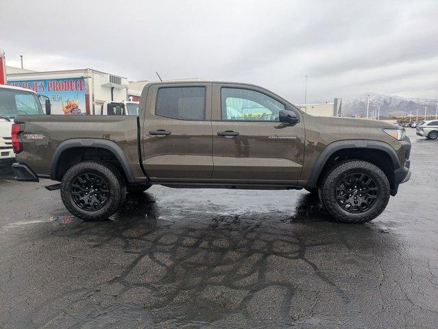
[[[86,211],[101,210],[110,197],[108,182],[97,173],[77,175],[71,184],[70,193],[75,205]]]

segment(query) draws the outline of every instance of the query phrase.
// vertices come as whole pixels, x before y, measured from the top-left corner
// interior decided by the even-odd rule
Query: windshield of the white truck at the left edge
[[[0,88],[0,117],[13,118],[18,114],[43,114],[36,95],[25,90]]]

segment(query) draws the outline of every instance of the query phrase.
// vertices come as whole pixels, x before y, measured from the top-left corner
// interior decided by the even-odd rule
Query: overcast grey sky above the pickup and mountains
[[[438,1],[0,0],[7,64],[250,82],[294,103],[438,97]]]

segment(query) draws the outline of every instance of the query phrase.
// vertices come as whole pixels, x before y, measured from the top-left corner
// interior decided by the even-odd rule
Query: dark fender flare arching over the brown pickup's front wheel
[[[327,160],[341,149],[378,149],[380,151],[384,151],[392,161],[394,170],[400,167],[400,163],[398,162],[398,156],[396,150],[391,147],[391,145],[380,142],[380,141],[372,141],[367,139],[349,139],[346,141],[336,141],[327,145],[319,154],[317,160],[312,169],[311,178],[308,180],[308,187],[315,187],[319,175],[321,175],[322,169],[326,165]]]

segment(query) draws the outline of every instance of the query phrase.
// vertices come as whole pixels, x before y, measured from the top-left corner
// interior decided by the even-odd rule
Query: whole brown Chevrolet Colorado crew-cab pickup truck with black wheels
[[[301,189],[338,221],[363,223],[409,180],[411,143],[380,121],[313,117],[269,90],[151,83],[138,116],[19,115],[17,180],[61,182],[76,217],[110,217],[126,193],[173,188]]]

